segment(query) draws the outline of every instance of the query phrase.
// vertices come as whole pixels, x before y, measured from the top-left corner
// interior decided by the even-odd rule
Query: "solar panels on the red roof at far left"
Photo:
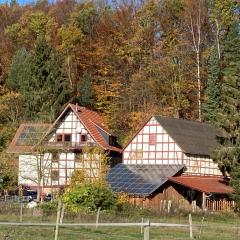
[[[25,126],[16,140],[16,146],[33,146],[37,144],[47,129],[44,126]]]

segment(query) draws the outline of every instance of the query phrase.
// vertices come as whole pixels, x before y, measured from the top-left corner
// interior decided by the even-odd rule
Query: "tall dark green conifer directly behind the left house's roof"
[[[70,88],[61,65],[60,56],[44,39],[38,40],[31,57],[31,80],[23,92],[27,119],[51,121],[69,100]]]

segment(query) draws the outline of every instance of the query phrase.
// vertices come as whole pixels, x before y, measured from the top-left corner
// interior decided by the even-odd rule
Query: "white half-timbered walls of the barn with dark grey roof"
[[[156,134],[156,144],[149,135]],[[136,152],[142,152],[136,154]],[[207,156],[187,156],[165,129],[152,117],[123,151],[124,164],[184,164],[186,174],[222,175],[218,165]]]

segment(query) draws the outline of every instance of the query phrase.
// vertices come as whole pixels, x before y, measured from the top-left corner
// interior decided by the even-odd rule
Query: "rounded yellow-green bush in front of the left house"
[[[63,195],[63,202],[72,211],[91,212],[110,210],[116,206],[116,196],[107,184],[85,183],[67,190]]]

